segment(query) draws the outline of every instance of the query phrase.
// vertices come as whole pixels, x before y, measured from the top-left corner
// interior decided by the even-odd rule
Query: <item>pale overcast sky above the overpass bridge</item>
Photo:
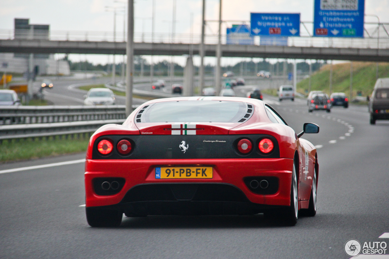
[[[155,0],[155,32],[172,30],[173,0]],[[105,6],[123,6],[114,0],[2,0],[0,29],[13,29],[14,18],[30,18],[32,24],[49,24],[54,31],[113,30],[113,13]],[[301,21],[313,21],[314,0],[223,0],[222,19],[249,21],[250,12],[300,13]],[[190,32],[193,13],[193,33],[201,32],[202,0],[177,0],[176,33]],[[206,19],[218,19],[219,0],[206,0]],[[375,14],[381,22],[389,22],[389,0],[365,0],[365,14]],[[151,32],[152,0],[136,0],[135,32]],[[366,21],[377,21],[366,17]],[[143,23],[143,25],[142,25]],[[212,24],[212,23],[210,23]],[[231,25],[229,23],[227,25]],[[207,33],[217,33],[216,23]],[[310,25],[312,27],[312,25]],[[224,26],[225,28],[225,26]],[[311,28],[309,28],[311,30]],[[225,32],[225,29],[222,30]],[[123,33],[123,15],[117,15],[117,33]],[[301,33],[304,33],[301,31]]]

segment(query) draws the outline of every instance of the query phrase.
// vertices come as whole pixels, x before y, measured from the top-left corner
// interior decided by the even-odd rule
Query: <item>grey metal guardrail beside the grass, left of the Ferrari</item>
[[[0,107],[0,143],[20,138],[91,135],[100,126],[125,121],[124,105]]]

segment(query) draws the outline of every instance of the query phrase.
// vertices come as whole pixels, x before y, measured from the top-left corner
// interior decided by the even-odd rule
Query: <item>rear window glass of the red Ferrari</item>
[[[238,122],[247,111],[240,101],[164,101],[151,105],[142,122]]]

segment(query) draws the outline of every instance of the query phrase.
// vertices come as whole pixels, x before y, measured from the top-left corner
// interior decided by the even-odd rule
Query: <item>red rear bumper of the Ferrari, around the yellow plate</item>
[[[155,179],[155,168],[163,165],[212,166],[214,174],[212,179]],[[228,208],[231,207],[230,205],[233,208],[236,206],[243,206],[250,210],[255,208],[255,211],[267,208],[268,205],[290,205],[293,159],[89,159],[86,161],[85,168],[86,207],[108,206],[128,214],[136,214],[137,211],[139,213],[140,208],[147,208],[148,213],[156,213],[167,206],[171,208],[168,211],[172,214],[172,211],[182,211],[172,207],[180,208],[183,204],[186,204],[189,211],[200,212],[204,212],[207,208],[208,211],[212,211],[212,208],[224,208],[227,205]],[[125,182],[117,194],[98,195],[93,187],[93,179],[99,177],[121,177]],[[277,192],[254,193],[244,182],[246,177],[276,177]],[[188,192],[188,188],[196,189],[195,194],[193,196],[184,194],[184,198],[180,198],[177,191],[173,190],[173,195],[170,195],[172,184],[180,185],[181,189],[186,190],[185,192]],[[150,194],[151,190],[156,193],[151,196],[143,195]],[[212,194],[214,190],[221,191]]]

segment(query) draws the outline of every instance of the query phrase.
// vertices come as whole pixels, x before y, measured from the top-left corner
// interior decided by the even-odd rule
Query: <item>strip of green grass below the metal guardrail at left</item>
[[[11,142],[3,140],[0,144],[0,163],[86,152],[88,143],[89,137],[72,139],[70,136],[68,139],[65,136],[61,136],[61,139],[60,136],[42,140],[35,138],[35,141],[32,138]]]

